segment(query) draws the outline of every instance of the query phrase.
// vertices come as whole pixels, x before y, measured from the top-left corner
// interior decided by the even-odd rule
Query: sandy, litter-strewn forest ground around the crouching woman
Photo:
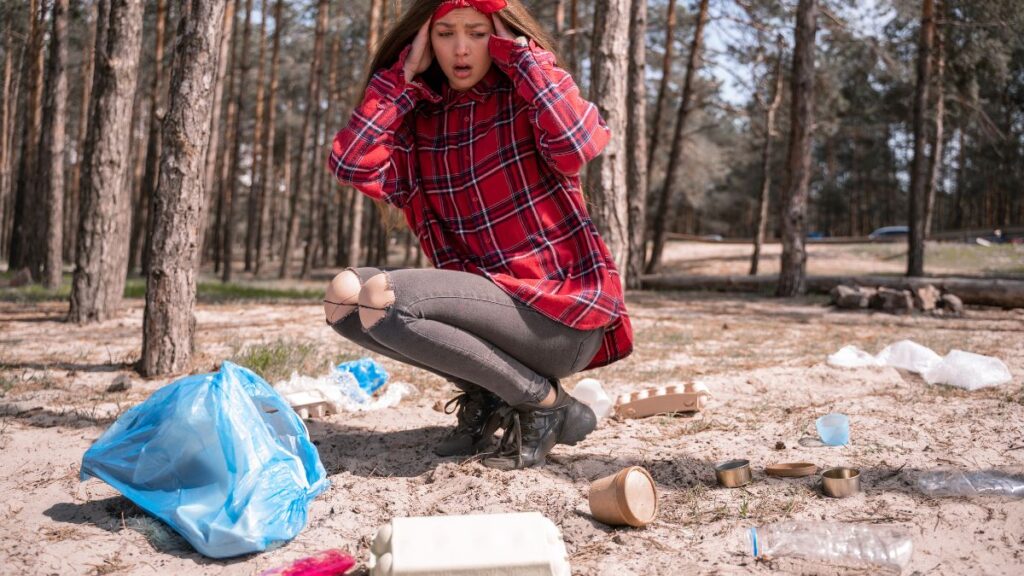
[[[85,328],[61,322],[63,303],[0,302],[0,573],[253,574],[328,547],[360,562],[377,528],[398,516],[539,510],[562,530],[578,574],[861,574],[843,566],[756,562],[740,532],[785,520],[893,524],[913,537],[906,574],[1024,573],[1024,500],[936,499],[921,470],[1024,470],[1024,311],[972,308],[963,319],[841,313],[814,298],[779,301],[699,293],[633,293],[636,353],[585,373],[610,393],[697,379],[714,394],[692,417],[605,420],[540,468],[500,472],[433,456],[454,421],[433,409],[451,397],[439,378],[383,361],[419,394],[386,413],[309,422],[331,488],[287,545],[232,561],[194,552],[109,486],[78,481],[83,452],[112,418],[170,381],[142,380],[141,302]],[[327,328],[318,304],[203,305],[197,371],[246,345],[312,343],[359,352]],[[895,369],[824,364],[847,343],[878,352],[910,338],[939,354],[957,347],[1006,361],[1010,384],[975,393],[929,386]],[[126,393],[105,393],[120,375]],[[567,381],[572,385],[579,378]],[[850,415],[852,442],[816,445],[814,419]],[[755,482],[715,484],[715,462],[751,460]],[[822,496],[814,479],[765,477],[765,465],[810,461],[862,470],[864,491]],[[650,470],[659,515],[646,529],[593,520],[589,483],[628,465]]]

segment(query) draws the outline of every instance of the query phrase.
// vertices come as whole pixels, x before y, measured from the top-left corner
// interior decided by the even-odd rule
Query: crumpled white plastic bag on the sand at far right
[[[943,358],[932,348],[911,340],[890,344],[877,356],[857,346],[843,346],[829,355],[827,362],[829,366],[839,368],[892,366],[921,374],[930,384],[946,384],[967,390],[997,386],[1012,379],[1010,368],[998,358],[959,349],[950,351]]]

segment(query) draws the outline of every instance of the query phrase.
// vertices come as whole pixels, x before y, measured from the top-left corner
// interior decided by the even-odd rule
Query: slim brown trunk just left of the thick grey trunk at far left
[[[39,192],[39,136],[43,122],[43,20],[38,0],[29,4],[29,42],[22,84],[26,119],[22,124],[22,155],[14,190],[14,235],[8,270],[29,269],[33,280],[42,280],[46,215]]]

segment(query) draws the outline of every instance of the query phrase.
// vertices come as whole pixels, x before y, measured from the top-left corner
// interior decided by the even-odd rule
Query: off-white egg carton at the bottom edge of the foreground
[[[395,518],[370,545],[372,576],[569,576],[558,527],[540,512]]]

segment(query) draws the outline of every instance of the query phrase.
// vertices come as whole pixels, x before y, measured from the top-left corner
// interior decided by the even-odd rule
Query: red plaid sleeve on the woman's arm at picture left
[[[423,84],[406,82],[411,46],[391,68],[374,75],[348,125],[334,138],[328,167],[341,183],[375,200],[403,207],[417,186],[416,154],[407,114],[421,99],[440,96]]]

